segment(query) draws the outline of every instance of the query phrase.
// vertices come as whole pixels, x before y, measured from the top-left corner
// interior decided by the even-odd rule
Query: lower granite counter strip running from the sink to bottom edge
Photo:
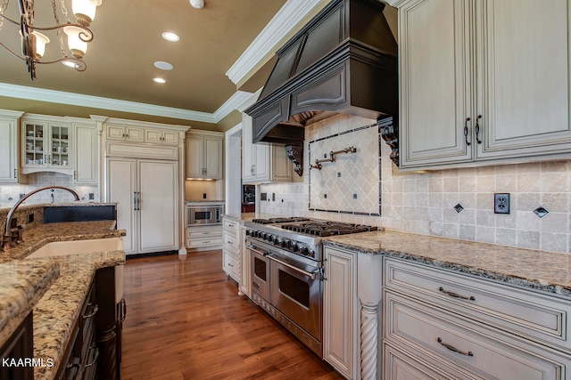
[[[70,344],[70,333],[95,271],[124,264],[125,252],[54,256],[54,259],[60,265],[61,276],[34,307],[34,358],[51,358],[54,367],[34,368],[35,380],[53,379],[57,368],[65,364],[62,363],[65,347]]]

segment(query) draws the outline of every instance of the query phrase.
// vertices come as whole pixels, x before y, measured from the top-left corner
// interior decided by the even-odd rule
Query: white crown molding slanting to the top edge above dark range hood
[[[276,13],[263,28],[258,36],[252,41],[244,53],[234,62],[226,72],[226,76],[238,85],[250,71],[256,67],[269,54],[276,53],[277,44],[294,29],[300,22],[310,15],[319,6],[327,4],[328,0],[287,0],[284,6]]]

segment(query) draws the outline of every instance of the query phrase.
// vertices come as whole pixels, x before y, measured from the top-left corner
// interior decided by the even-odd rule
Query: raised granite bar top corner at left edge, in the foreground
[[[0,264],[0,346],[59,276],[60,265],[53,259]]]

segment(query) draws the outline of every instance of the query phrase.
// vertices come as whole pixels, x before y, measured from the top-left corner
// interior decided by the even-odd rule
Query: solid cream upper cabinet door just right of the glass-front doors
[[[97,130],[94,126],[75,127],[75,170],[76,184],[97,184]]]

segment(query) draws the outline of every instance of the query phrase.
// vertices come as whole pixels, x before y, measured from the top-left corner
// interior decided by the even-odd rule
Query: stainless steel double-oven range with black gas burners
[[[323,357],[321,239],[377,227],[301,217],[245,223],[252,263],[252,301]]]

